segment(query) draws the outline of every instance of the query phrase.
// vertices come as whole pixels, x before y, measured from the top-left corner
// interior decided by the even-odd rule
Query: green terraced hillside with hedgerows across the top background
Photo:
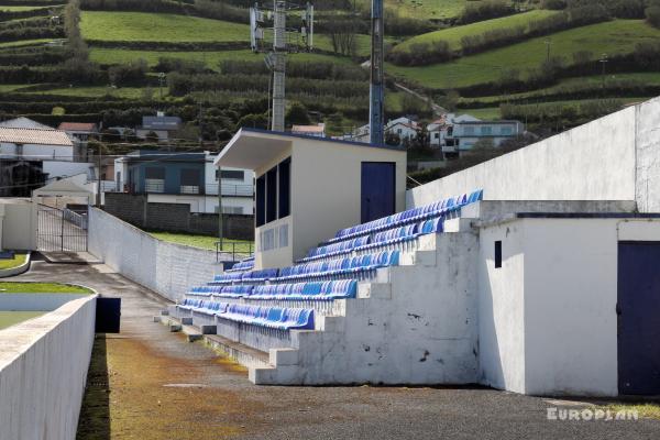
[[[386,0],[387,117],[435,118],[397,82],[451,111],[552,132],[660,95],[660,30],[644,8],[622,12],[616,1],[559,11],[531,0]],[[249,50],[249,4],[0,0],[0,118],[135,125],[160,110],[180,116],[182,139],[195,142],[199,130],[216,142],[265,127],[270,73],[265,54]],[[367,120],[370,1],[333,4],[316,4],[315,51],[288,57],[287,101],[307,118],[287,122],[343,134]]]

